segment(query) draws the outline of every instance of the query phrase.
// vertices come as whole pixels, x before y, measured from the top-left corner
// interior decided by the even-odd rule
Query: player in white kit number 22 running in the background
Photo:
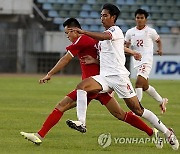
[[[126,47],[131,47],[138,51],[142,58],[141,61],[133,59],[134,68],[137,72],[136,93],[141,102],[143,91],[153,97],[160,105],[161,112],[166,111],[167,98],[162,98],[157,91],[149,85],[148,79],[153,64],[153,43],[157,43],[157,53],[162,55],[162,43],[156,30],[146,25],[148,12],[138,9],[135,12],[136,26],[129,29],[125,35]]]

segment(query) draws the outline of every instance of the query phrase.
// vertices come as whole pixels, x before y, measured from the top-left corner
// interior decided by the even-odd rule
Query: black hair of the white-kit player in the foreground
[[[103,5],[103,7],[102,7],[101,10],[103,10],[103,9],[108,10],[108,11],[109,11],[109,14],[110,14],[111,16],[114,16],[114,15],[115,15],[116,18],[115,18],[114,22],[116,22],[118,16],[120,15],[120,10],[119,10],[119,8],[118,8],[117,6],[115,6],[115,5],[113,5],[113,4],[106,3],[106,4]]]

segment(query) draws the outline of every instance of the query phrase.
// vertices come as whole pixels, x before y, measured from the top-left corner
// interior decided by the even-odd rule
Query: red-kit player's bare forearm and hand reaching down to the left
[[[46,83],[48,80],[51,79],[51,76],[60,70],[62,70],[72,59],[72,55],[67,52],[59,61],[56,63],[56,65],[47,73],[45,77],[39,80],[39,83]]]

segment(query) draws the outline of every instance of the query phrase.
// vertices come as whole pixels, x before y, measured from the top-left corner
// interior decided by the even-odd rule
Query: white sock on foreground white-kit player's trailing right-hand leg
[[[167,127],[158,119],[158,117],[150,110],[144,109],[143,118],[148,120],[154,127],[160,130],[162,133],[167,133]]]

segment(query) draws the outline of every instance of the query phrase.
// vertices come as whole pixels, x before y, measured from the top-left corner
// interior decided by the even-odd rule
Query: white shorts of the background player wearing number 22
[[[142,64],[142,65],[135,67],[137,76],[140,75],[147,80],[149,78],[151,68],[152,68],[152,66],[150,64]]]

